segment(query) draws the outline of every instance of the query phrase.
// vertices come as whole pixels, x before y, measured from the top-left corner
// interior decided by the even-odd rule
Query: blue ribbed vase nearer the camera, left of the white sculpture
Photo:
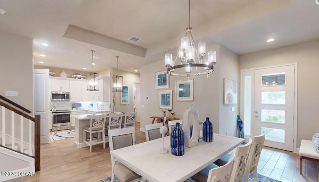
[[[185,153],[184,131],[178,122],[170,133],[170,149],[171,154],[175,156],[182,156]]]

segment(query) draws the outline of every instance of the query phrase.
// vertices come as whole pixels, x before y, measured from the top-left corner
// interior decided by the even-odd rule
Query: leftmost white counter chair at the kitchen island
[[[84,143],[84,147],[85,145],[89,145],[90,146],[90,152],[92,152],[92,134],[93,133],[98,133],[98,138],[97,141],[94,142],[94,144],[100,144],[103,143],[103,148],[105,149],[105,118],[106,115],[91,115],[90,116],[90,126],[84,127],[83,128],[83,143]],[[90,141],[88,142],[86,140],[86,133],[90,134]],[[100,133],[102,141],[100,140]]]

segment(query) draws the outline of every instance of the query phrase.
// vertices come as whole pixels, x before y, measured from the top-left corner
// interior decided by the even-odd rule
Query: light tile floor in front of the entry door
[[[303,176],[299,173],[299,154],[264,147],[258,173],[281,182],[319,182],[319,163],[303,160]]]

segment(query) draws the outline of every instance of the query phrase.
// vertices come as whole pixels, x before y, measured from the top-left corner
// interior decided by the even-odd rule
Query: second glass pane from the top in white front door
[[[285,91],[262,91],[261,103],[262,104],[285,104],[286,92]]]

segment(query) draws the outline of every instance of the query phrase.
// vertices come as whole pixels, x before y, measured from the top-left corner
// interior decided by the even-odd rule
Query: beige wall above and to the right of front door
[[[255,52],[239,57],[239,68],[259,68],[298,62],[297,148],[302,139],[310,140],[319,131],[319,40]],[[293,137],[293,136],[292,136]]]

